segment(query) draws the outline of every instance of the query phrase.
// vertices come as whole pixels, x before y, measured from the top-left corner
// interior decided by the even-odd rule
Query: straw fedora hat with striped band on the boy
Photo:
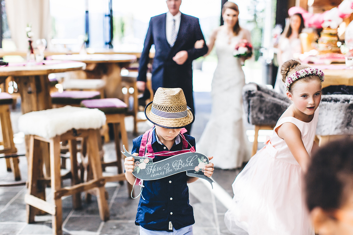
[[[145,108],[145,115],[150,122],[169,129],[183,128],[195,120],[181,88],[158,88]]]

